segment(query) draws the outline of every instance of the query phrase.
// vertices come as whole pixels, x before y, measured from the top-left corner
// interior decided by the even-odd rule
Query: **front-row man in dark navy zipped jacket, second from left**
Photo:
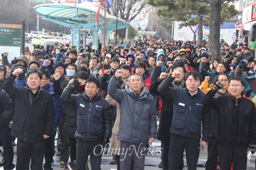
[[[110,106],[99,92],[98,78],[88,78],[85,92],[72,94],[80,85],[78,79],[71,79],[61,95],[63,104],[76,105],[76,165],[75,170],[85,170],[88,156],[93,170],[101,170],[101,152],[111,137],[112,117]]]

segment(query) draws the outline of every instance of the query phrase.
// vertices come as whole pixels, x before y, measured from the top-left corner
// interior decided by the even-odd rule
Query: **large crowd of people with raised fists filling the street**
[[[256,145],[256,43],[138,39],[112,49],[70,44],[1,54],[0,166],[53,170],[70,158],[74,170],[101,170],[102,150],[117,170],[144,170],[148,143],[161,141],[163,170],[246,170]],[[240,42],[241,41],[241,42]],[[252,39],[254,41],[254,39]],[[104,51],[105,50],[105,51]],[[157,117],[159,127],[157,128]],[[57,146],[54,146],[58,133]],[[43,158],[45,157],[45,163]]]

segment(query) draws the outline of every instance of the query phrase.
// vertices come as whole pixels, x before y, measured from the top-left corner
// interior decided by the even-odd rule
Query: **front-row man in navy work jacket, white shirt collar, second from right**
[[[183,151],[186,149],[186,159],[189,170],[196,170],[199,149],[206,148],[209,142],[209,114],[202,104],[205,96],[198,87],[201,75],[198,72],[188,72],[185,76],[186,88],[170,87],[170,84],[183,76],[181,70],[174,70],[172,75],[161,73],[165,78],[157,91],[173,102],[173,120],[170,128],[171,141],[168,152],[169,169],[182,170]],[[202,141],[201,138],[202,122]]]

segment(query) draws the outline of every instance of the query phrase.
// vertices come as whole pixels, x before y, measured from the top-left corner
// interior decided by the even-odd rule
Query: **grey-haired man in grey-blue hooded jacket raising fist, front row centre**
[[[108,85],[108,94],[120,104],[120,169],[130,170],[133,160],[137,170],[144,170],[147,144],[155,140],[157,132],[155,99],[138,73],[131,74],[126,89],[119,90],[123,74],[124,70],[117,70]]]

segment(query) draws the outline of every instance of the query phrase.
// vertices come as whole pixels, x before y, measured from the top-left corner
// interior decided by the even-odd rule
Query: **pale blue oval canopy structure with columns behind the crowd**
[[[89,9],[90,8],[90,9]],[[92,9],[92,8],[95,8]],[[43,16],[44,20],[54,22],[56,24],[69,27],[73,29],[73,46],[80,46],[80,33],[86,30],[92,30],[93,36],[96,41],[93,41],[93,45],[98,44],[98,31],[104,31],[104,13],[99,14],[99,26],[96,22],[96,7],[78,7],[64,4],[41,4],[34,7],[34,12],[40,16]],[[118,18],[116,16],[106,14],[106,39],[108,39],[108,33],[113,29],[123,29],[129,27],[129,22]]]

